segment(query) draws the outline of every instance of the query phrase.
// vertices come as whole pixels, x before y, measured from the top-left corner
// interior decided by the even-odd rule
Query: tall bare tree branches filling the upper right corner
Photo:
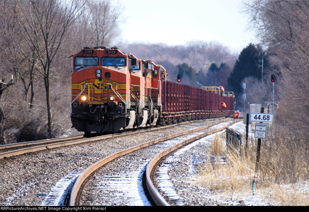
[[[246,8],[283,74],[278,83],[288,114],[283,121],[292,138],[309,139],[309,2],[254,1]]]

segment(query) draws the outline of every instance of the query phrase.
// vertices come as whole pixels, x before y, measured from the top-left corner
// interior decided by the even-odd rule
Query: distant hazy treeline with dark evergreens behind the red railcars
[[[260,103],[261,97],[254,94],[261,88],[263,49],[259,45],[249,44],[239,56],[232,54],[229,48],[218,43],[201,41],[187,45],[167,46],[166,44],[119,44],[125,52],[131,52],[138,58],[152,60],[161,64],[168,72],[167,79],[194,87],[223,86],[226,91],[236,95],[236,107],[243,108],[243,88],[247,86],[247,102]],[[269,63],[269,56],[263,54],[263,79],[268,80],[272,73],[280,75],[277,66]],[[264,85],[264,99],[270,100],[269,85]],[[254,88],[254,89],[253,89]],[[252,89],[252,90],[251,90]],[[252,93],[252,92],[253,93]]]

